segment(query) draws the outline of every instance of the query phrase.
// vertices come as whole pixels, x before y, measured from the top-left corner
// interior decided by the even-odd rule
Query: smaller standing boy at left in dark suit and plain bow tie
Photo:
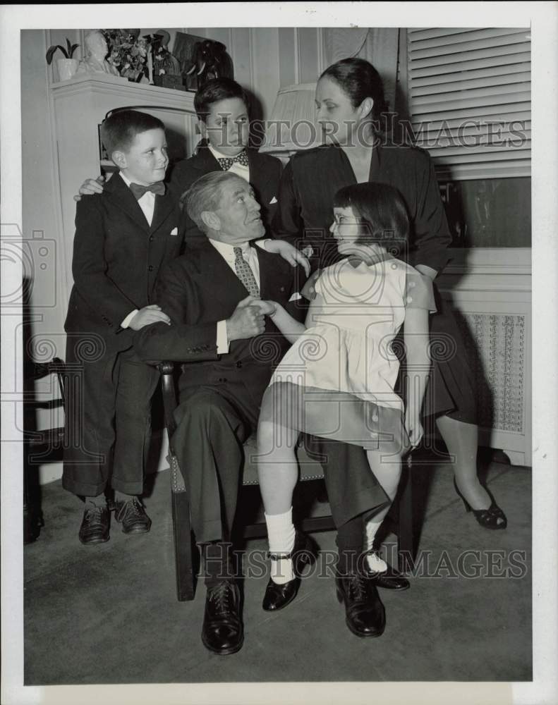
[[[83,544],[109,540],[103,497],[109,487],[123,532],[150,530],[140,495],[159,375],[133,352],[133,331],[169,324],[152,294],[159,269],[178,255],[182,240],[180,210],[163,183],[169,163],[163,123],[120,111],[104,121],[102,140],[120,171],[102,195],[78,202],[65,324],[63,486],[85,496]]]

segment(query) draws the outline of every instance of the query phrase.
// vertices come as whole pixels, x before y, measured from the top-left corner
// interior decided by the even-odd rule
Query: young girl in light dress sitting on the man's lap
[[[270,302],[274,324],[293,343],[265,392],[257,430],[271,591],[274,584],[296,580],[289,553],[295,538],[291,498],[300,432],[365,448],[371,472],[389,497],[372,519],[374,529],[396,494],[401,455],[423,435],[428,312],[435,305],[430,279],[394,256],[402,255],[408,237],[404,201],[392,186],[359,183],[336,193],[334,218],[331,232],[344,259],[305,287],[313,288],[305,325]],[[405,410],[394,392],[399,360],[391,348],[404,321]],[[368,568],[381,571],[387,565],[369,556]],[[356,565],[348,572],[358,573]],[[338,596],[346,598],[339,583]]]

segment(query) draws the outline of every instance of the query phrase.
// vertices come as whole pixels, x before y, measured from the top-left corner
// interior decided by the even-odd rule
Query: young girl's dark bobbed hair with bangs
[[[352,208],[363,226],[363,235],[357,245],[381,243],[391,250],[389,243],[399,249],[408,240],[409,221],[403,197],[387,183],[356,183],[336,192],[336,208]]]

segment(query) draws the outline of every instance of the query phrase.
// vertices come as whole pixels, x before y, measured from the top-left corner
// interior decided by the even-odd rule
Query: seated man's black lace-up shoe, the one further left
[[[241,619],[241,591],[231,580],[207,588],[202,642],[214,654],[235,654],[241,649],[244,631]]]

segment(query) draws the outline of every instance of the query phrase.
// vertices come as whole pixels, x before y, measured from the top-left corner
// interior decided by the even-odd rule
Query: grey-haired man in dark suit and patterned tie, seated
[[[135,349],[143,360],[184,363],[172,443],[204,559],[202,642],[214,653],[233,654],[243,644],[243,623],[228,539],[241,486],[242,444],[257,428],[263,393],[289,347],[265,315],[269,304],[263,300],[277,301],[300,318],[302,309],[297,313],[294,302],[305,275],[279,255],[252,246],[264,227],[243,178],[208,173],[190,187],[185,202],[188,216],[207,238],[190,243],[186,254],[162,272],[155,300],[171,324],[138,331]],[[386,496],[368,467],[336,472],[339,446],[335,441],[328,446],[324,467],[342,557],[362,551],[362,523],[353,519],[380,508]],[[299,532],[295,551],[306,558],[313,552],[310,539]],[[298,583],[297,576],[286,586],[268,584],[264,608],[286,606]],[[372,582],[364,592],[355,591],[352,607],[351,618],[365,630],[382,632],[383,606]]]

